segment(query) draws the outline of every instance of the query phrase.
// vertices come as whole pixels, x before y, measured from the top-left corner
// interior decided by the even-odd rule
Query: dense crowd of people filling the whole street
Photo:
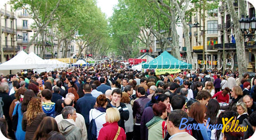
[[[114,68],[2,74],[0,128],[18,140],[246,139],[256,127],[256,75],[238,76]],[[234,120],[248,129],[209,128],[223,124],[222,118],[231,119],[231,128],[238,127]]]

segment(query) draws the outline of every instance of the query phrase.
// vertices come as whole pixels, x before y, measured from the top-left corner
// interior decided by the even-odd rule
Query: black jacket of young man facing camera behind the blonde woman
[[[113,107],[111,105],[111,103],[108,103],[108,105],[106,105],[106,109]],[[119,110],[120,113],[120,120],[118,121],[118,126],[122,127],[125,131],[125,127],[124,127],[124,120],[127,121],[129,119],[129,110],[126,107],[126,105],[124,103],[120,102],[120,106],[117,106],[117,109]]]

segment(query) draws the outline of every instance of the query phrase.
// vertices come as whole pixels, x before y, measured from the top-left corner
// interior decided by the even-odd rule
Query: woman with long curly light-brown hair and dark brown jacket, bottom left
[[[27,111],[23,114],[22,129],[26,131],[25,139],[30,140],[34,137],[34,133],[46,114],[42,110],[41,98],[33,97]]]

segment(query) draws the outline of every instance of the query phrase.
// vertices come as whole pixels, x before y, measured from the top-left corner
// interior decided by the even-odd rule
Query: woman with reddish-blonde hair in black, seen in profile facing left
[[[236,111],[237,107],[236,107],[236,103],[238,102],[243,102],[243,91],[241,89],[240,86],[234,86],[231,91],[231,97],[233,97],[232,101],[228,104],[228,105],[225,105],[225,106],[221,106],[220,109],[222,110],[233,110],[233,111]]]

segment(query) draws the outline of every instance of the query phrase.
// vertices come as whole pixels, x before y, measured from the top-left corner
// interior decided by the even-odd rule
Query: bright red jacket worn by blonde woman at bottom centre
[[[103,124],[103,127],[99,130],[98,139],[113,140],[116,136],[117,130],[118,130],[117,122],[114,122],[114,123],[107,122],[107,123]],[[120,133],[117,137],[117,140],[120,140],[120,139],[121,140],[126,139],[126,135],[125,135],[125,132],[122,127],[121,127]]]

